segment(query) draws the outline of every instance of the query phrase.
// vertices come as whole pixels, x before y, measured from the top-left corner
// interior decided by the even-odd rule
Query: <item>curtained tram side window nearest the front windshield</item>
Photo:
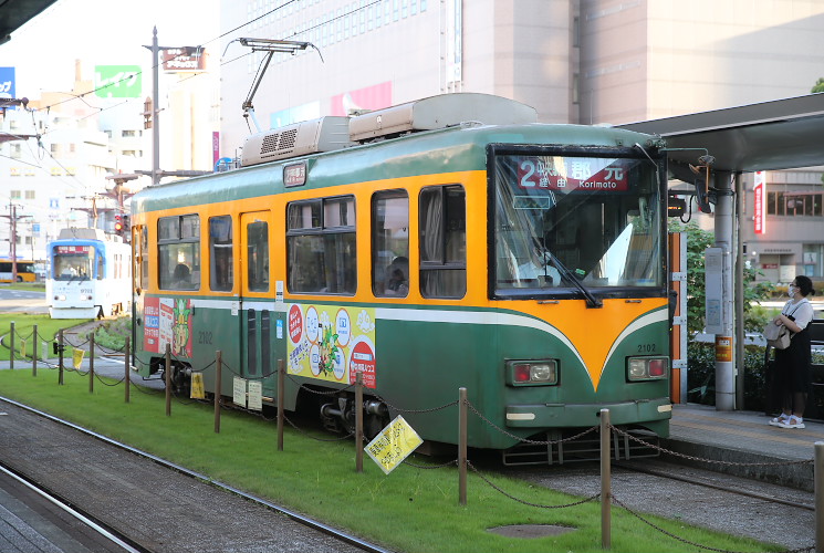
[[[467,293],[467,201],[460,185],[420,192],[420,293],[463,298]]]

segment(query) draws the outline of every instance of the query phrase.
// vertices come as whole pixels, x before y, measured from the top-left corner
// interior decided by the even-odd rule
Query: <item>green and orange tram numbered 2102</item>
[[[186,390],[311,408],[365,431],[398,414],[557,462],[598,424],[667,436],[667,166],[659,137],[535,123],[498,96],[434,96],[252,135],[241,167],[132,200],[134,366]],[[320,393],[320,394],[317,394]]]

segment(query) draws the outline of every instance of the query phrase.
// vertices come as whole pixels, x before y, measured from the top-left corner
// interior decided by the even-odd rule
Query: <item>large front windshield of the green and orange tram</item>
[[[496,292],[663,288],[657,169],[648,158],[496,156]]]

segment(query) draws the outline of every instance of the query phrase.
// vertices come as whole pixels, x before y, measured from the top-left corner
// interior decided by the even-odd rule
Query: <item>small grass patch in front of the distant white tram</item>
[[[41,342],[53,342],[58,332],[61,328],[67,330],[82,323],[87,323],[90,319],[51,319],[49,315],[30,315],[21,313],[0,313],[0,337],[2,344],[0,344],[0,361],[9,361],[11,358],[11,352],[9,346],[11,323],[14,322],[14,363],[21,366],[28,363],[23,357],[23,342],[25,342],[25,356],[31,357],[34,347],[38,347],[38,357],[43,355]],[[34,332],[34,325],[38,325],[38,340],[32,340],[32,333]],[[49,355],[52,356],[51,345],[49,345]],[[72,348],[66,347],[65,355],[71,359]]]

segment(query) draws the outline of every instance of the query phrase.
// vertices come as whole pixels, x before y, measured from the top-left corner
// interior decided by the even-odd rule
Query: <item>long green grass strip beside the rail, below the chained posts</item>
[[[0,396],[66,418],[394,551],[602,551],[598,502],[564,509],[528,507],[502,495],[470,471],[468,504],[460,507],[455,467],[423,470],[400,466],[385,476],[364,456],[364,472],[357,473],[353,440],[320,442],[286,426],[284,451],[278,451],[274,422],[223,410],[221,431],[215,434],[210,404],[174,401],[171,416],[166,417],[160,394],[133,390],[132,401],[126,404],[122,385],[96,386],[90,394],[86,377],[76,373],[67,374],[65,385],[58,386],[56,376],[48,371],[36,377],[29,371],[0,371]],[[414,462],[429,461],[416,457]],[[494,471],[483,474],[507,493],[531,503],[566,504],[580,499]],[[690,528],[680,521],[658,517],[649,520],[682,539],[722,551],[783,549]],[[613,552],[698,551],[616,507],[612,521]],[[577,531],[531,540],[488,531],[525,523]]]

